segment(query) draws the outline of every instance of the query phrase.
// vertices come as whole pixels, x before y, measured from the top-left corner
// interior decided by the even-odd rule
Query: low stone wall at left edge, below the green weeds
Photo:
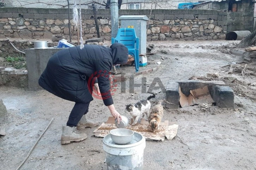
[[[28,72],[0,67],[0,86],[28,88]]]

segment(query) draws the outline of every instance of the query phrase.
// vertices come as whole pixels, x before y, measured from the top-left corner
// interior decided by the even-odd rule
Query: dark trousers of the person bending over
[[[89,103],[75,103],[67,122],[67,126],[77,126],[80,119],[88,112]]]

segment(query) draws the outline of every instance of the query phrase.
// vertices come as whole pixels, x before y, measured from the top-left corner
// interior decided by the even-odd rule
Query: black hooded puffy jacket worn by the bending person
[[[70,47],[55,53],[38,80],[45,90],[76,103],[93,100],[92,87],[98,81],[106,106],[113,104],[110,93],[109,71],[113,64],[125,64],[128,49],[119,43],[110,48],[101,45]],[[95,80],[95,78],[97,79]]]

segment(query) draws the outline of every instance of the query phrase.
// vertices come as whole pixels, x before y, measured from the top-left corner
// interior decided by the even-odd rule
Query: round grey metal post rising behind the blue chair
[[[118,2],[117,0],[110,0],[110,14],[111,14],[111,37],[115,38],[118,31]]]

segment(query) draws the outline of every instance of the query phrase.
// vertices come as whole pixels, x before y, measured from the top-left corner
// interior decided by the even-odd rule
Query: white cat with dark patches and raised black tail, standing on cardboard
[[[153,93],[150,93],[153,94]],[[148,113],[150,111],[150,99],[155,98],[155,94],[149,96],[146,100],[140,100],[136,104],[128,104],[126,105],[126,110],[130,113],[133,117],[133,124],[135,125],[138,123],[139,117],[142,115],[142,118],[146,115],[148,117]]]

